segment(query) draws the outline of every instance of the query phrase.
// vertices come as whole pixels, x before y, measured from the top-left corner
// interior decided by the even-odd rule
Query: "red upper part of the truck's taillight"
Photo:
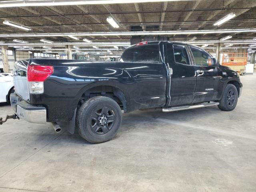
[[[28,82],[44,82],[51,74],[53,74],[53,66],[28,66]]]

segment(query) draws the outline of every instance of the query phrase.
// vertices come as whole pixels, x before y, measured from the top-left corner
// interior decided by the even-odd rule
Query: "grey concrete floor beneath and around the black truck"
[[[241,81],[232,112],[135,111],[102,144],[9,120],[0,126],[0,192],[256,191],[256,74]]]

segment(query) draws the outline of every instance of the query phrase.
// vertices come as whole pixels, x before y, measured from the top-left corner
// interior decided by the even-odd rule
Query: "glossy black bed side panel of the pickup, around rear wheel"
[[[31,104],[48,109],[49,122],[70,121],[82,94],[96,86],[119,88],[126,96],[127,112],[164,106],[166,102],[163,63],[50,62],[47,65],[54,66],[54,73],[44,82],[44,94],[30,94]]]

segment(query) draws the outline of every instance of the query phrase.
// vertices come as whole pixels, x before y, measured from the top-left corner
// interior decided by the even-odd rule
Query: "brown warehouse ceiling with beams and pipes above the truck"
[[[0,4],[1,5],[1,4]],[[213,26],[220,18],[233,12],[232,20],[221,26]],[[113,28],[106,18],[112,16],[120,24]],[[3,24],[5,20],[30,27],[29,32]],[[146,2],[130,4],[91,4],[69,6],[22,6],[0,8],[0,41],[14,43],[14,39],[39,43],[44,38],[53,42],[130,42],[131,35],[107,32],[175,31],[164,34],[173,41],[186,41],[196,37],[196,41],[220,40],[231,35],[233,40],[252,40],[256,37],[256,0],[183,0]],[[202,34],[180,34],[188,30],[226,30],[254,29],[253,32],[218,32]],[[103,34],[94,34],[103,32]],[[32,34],[22,36],[22,34]],[[33,36],[33,34],[52,34],[58,36]],[[74,40],[62,33],[90,33]],[[4,34],[1,36],[1,34]],[[19,34],[19,36],[8,36]],[[158,34],[156,34],[157,36]],[[248,44],[251,44],[247,43]],[[18,44],[18,43],[17,43]],[[237,43],[236,46],[246,43]]]

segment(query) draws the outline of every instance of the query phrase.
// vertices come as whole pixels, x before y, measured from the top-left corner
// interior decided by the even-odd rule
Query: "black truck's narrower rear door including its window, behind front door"
[[[168,106],[190,104],[194,100],[196,73],[187,46],[167,43],[168,65],[172,71]]]

